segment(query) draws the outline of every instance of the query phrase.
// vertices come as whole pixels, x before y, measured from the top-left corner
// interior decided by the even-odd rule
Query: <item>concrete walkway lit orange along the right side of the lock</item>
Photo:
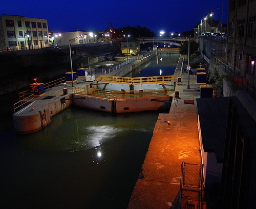
[[[180,67],[178,63],[175,75]],[[199,86],[195,76],[190,76],[189,89],[187,73],[181,79],[176,85],[179,99],[173,100],[169,113],[159,114],[128,209],[170,208],[180,190],[182,162],[201,164],[196,103],[185,104],[200,97]]]

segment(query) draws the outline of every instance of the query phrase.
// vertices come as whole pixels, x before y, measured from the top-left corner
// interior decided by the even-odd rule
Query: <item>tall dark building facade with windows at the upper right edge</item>
[[[230,0],[226,61],[242,77],[256,84],[256,1]]]

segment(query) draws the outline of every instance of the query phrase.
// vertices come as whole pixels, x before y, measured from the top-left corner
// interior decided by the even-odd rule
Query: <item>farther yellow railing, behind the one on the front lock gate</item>
[[[177,76],[176,76],[177,77]],[[120,76],[96,76],[99,82],[123,83],[123,84],[145,84],[174,82],[175,76],[149,76],[149,77],[120,77]]]

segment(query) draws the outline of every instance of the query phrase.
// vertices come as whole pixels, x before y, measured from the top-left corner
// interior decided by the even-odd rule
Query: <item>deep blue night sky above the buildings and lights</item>
[[[161,30],[189,31],[210,10],[214,11],[215,20],[223,17],[223,23],[227,23],[228,0],[13,0],[1,2],[0,15],[47,19],[52,32],[104,31],[111,28],[111,22],[115,29],[140,26],[158,35]]]

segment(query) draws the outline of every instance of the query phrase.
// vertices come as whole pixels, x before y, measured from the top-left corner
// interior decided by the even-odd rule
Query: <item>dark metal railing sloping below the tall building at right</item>
[[[241,89],[247,91],[248,94],[253,99],[256,99],[256,88],[254,85],[254,78],[252,78],[252,81],[249,81],[241,75],[240,71],[236,71],[236,69],[233,69],[232,67],[228,66],[217,57],[215,57],[215,64],[217,64],[222,69],[222,71],[224,71],[228,76],[230,76],[230,78],[233,79],[233,81]]]

